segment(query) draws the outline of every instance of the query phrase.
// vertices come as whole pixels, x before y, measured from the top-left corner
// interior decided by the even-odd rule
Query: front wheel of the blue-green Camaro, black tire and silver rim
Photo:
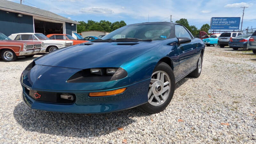
[[[140,105],[141,111],[154,114],[163,111],[175,90],[175,77],[172,68],[160,62],[153,71],[148,88],[148,102]]]

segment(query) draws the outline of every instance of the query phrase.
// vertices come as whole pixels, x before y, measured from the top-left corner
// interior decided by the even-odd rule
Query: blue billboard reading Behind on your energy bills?
[[[239,29],[241,17],[214,17],[211,18],[210,29],[225,29],[236,30]]]

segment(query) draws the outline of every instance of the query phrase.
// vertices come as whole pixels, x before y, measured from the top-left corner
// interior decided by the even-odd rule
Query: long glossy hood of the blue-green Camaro
[[[38,65],[63,68],[118,68],[132,56],[149,51],[158,43],[161,41],[83,43],[50,52],[35,62]]]

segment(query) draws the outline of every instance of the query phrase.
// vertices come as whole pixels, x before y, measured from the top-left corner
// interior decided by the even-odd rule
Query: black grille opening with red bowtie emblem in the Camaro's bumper
[[[56,93],[56,92],[43,92],[43,91],[34,91],[28,90],[25,88],[25,92],[36,101],[40,102],[49,102],[49,103],[59,103],[59,104],[72,104],[76,101],[76,95],[73,93]],[[67,94],[72,95],[73,99],[63,99],[60,95]]]

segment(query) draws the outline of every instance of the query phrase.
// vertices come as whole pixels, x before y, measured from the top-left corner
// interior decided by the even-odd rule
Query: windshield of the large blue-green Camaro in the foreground
[[[142,23],[118,28],[102,37],[102,39],[137,38],[142,40],[163,40],[169,38],[170,33],[170,23]]]

